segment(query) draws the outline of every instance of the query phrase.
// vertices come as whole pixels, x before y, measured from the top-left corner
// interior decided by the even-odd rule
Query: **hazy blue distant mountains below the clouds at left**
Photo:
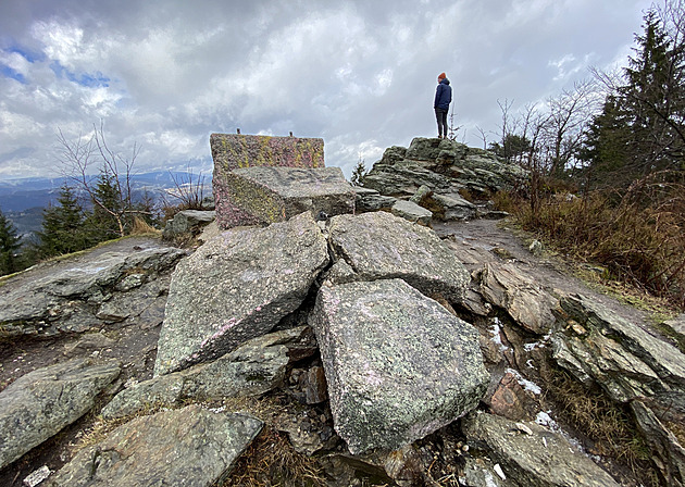
[[[191,179],[190,179],[191,178]],[[212,176],[189,174],[185,172],[158,171],[152,173],[136,174],[132,177],[135,195],[147,192],[155,201],[163,198],[174,204],[176,201],[169,197],[167,190],[179,185],[195,185],[198,179],[203,182],[202,193],[212,195]],[[42,209],[55,204],[60,196],[60,188],[67,184],[75,187],[74,182],[66,177],[27,177],[0,180],[0,210],[16,226],[21,235],[28,235],[39,230],[42,224]],[[76,189],[76,193],[82,191]]]

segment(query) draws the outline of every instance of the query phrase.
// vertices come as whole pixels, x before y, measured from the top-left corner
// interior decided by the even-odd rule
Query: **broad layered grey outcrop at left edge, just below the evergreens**
[[[115,250],[108,251],[110,248]],[[98,313],[102,305],[109,305],[109,299],[155,279],[185,255],[183,250],[159,247],[149,239],[120,241],[101,250],[97,257],[89,257],[95,253],[89,251],[38,266],[0,287],[0,334],[85,332],[108,320],[107,313]]]

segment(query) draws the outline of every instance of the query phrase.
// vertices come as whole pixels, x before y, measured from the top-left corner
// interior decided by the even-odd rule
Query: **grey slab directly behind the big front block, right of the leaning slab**
[[[471,276],[429,228],[386,212],[331,218],[328,239],[360,280],[401,278],[426,296],[462,302]]]

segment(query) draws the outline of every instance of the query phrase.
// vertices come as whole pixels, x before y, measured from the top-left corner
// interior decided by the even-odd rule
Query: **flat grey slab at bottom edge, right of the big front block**
[[[522,425],[522,426],[519,426]],[[619,484],[561,434],[535,423],[470,414],[462,430],[472,450],[484,450],[518,485],[609,487]]]

